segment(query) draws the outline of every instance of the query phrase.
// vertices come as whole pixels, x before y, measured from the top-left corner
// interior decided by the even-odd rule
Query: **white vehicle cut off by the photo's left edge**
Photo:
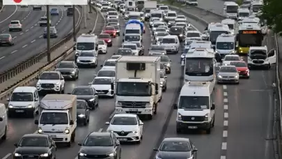
[[[0,103],[0,139],[6,139],[8,131],[8,117],[6,107]]]

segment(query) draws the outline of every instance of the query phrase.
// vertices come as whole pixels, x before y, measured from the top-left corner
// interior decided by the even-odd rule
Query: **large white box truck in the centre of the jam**
[[[122,56],[116,63],[116,114],[157,114],[162,98],[159,56]]]

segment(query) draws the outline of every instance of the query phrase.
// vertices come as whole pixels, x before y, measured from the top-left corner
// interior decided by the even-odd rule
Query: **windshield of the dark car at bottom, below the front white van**
[[[188,142],[162,142],[159,151],[187,152],[191,148]]]

